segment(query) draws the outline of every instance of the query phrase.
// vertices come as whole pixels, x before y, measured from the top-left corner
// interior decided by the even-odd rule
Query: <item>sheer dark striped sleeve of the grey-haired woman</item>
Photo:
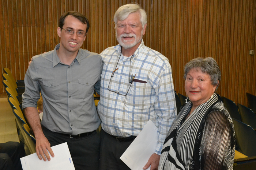
[[[211,112],[206,118],[201,141],[202,169],[229,169],[231,135],[227,117],[220,111]]]

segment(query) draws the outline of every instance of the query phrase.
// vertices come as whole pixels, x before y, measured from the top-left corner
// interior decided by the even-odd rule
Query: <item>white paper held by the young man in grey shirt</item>
[[[37,154],[31,154],[26,157],[20,158],[23,170],[75,170],[70,152],[68,150],[67,142],[60,145],[51,147],[54,153],[54,158],[51,157],[50,161],[40,160]]]

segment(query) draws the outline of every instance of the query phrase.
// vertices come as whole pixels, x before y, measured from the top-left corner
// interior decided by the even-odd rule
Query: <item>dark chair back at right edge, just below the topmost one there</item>
[[[253,111],[239,103],[237,104],[237,107],[240,112],[242,122],[256,130],[256,117]]]

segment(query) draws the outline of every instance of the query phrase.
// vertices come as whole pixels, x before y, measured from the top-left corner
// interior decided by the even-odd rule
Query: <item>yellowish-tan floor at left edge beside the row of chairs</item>
[[[19,142],[15,117],[8,103],[7,96],[4,95],[0,97],[0,117],[0,143],[8,141]]]

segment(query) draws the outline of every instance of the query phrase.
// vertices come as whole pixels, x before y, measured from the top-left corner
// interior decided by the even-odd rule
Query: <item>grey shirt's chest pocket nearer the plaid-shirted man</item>
[[[94,78],[78,79],[79,91],[81,98],[87,98],[94,92]]]

